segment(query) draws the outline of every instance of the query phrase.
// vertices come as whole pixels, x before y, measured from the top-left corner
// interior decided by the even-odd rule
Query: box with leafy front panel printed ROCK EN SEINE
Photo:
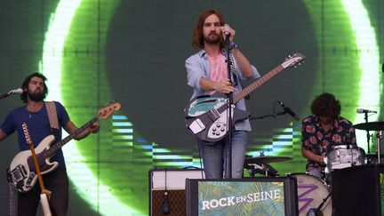
[[[187,180],[187,215],[299,215],[295,177]]]

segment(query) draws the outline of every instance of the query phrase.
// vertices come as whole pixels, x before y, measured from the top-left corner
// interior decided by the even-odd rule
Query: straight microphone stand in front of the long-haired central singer
[[[228,72],[228,80],[232,86],[232,76],[230,67],[233,62],[231,62],[230,58],[230,49],[229,49],[229,34],[226,34],[226,54],[227,54],[227,72]],[[227,127],[228,127],[228,179],[232,179],[232,105],[233,105],[233,94],[229,92],[226,94],[227,96]]]

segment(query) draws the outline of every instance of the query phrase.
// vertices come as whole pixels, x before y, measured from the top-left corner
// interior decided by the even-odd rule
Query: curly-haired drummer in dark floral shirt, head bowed
[[[340,101],[331,93],[322,93],[313,100],[312,116],[304,118],[301,127],[301,153],[308,158],[307,172],[324,179],[324,156],[328,148],[356,145],[353,124],[340,116]]]

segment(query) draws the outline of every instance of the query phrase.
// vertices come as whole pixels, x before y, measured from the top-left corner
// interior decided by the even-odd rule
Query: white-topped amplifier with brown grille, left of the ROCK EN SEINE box
[[[202,178],[201,169],[149,170],[149,215],[185,215],[186,180]]]

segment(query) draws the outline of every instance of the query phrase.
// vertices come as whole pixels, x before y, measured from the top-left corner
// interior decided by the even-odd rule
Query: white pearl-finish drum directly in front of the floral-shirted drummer
[[[350,167],[353,165],[361,165],[364,163],[365,153],[363,148],[346,145],[333,146],[325,155],[324,162],[326,164],[325,173],[333,170]]]

